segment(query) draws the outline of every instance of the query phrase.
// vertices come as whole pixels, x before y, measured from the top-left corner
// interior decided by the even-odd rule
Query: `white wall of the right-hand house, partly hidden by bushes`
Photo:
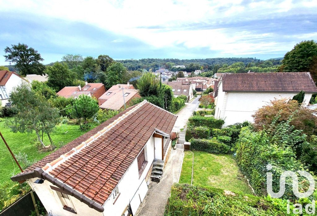
[[[287,98],[291,99],[298,93],[292,92],[228,92],[222,91],[222,83],[219,86],[215,118],[224,119],[223,127],[243,121],[253,121],[251,115],[271,100]],[[311,93],[305,93],[304,105],[309,103]],[[221,112],[220,112],[221,111]]]

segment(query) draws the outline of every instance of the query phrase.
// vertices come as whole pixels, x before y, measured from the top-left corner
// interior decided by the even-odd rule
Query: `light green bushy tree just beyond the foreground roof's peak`
[[[146,72],[137,81],[137,88],[141,96],[157,96],[159,93],[159,79],[153,73]]]

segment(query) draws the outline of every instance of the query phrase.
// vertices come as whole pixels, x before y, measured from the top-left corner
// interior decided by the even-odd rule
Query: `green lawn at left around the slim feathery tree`
[[[75,138],[79,137],[80,135],[86,133],[87,131],[91,130],[92,128],[89,128],[86,131],[82,131],[79,125],[60,124],[56,127],[55,131],[50,134],[50,136],[55,145],[57,145],[60,141],[66,144],[74,140]],[[21,134],[10,132],[10,128],[6,126],[5,121],[0,122],[0,131],[4,139],[7,141],[12,152],[14,154],[18,154],[19,152],[27,154],[29,161],[41,160],[43,157],[51,153],[38,152],[37,148],[31,143],[36,138],[35,133]],[[50,144],[49,138],[45,134],[43,142],[46,146]],[[9,150],[5,146],[2,139],[0,139],[0,155],[0,188],[3,188],[4,185],[7,186],[7,184],[13,184],[13,182],[10,180],[10,177],[14,174],[19,173],[20,169],[16,165],[15,161],[12,159]],[[7,184],[5,184],[5,182],[7,182]]]

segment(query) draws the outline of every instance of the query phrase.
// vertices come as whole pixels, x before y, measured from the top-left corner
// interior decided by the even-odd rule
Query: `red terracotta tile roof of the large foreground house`
[[[102,205],[154,130],[170,134],[176,119],[176,115],[143,101],[49,154],[24,173],[44,166],[56,179]],[[67,158],[58,164],[62,154]],[[47,163],[58,166],[50,170]]]

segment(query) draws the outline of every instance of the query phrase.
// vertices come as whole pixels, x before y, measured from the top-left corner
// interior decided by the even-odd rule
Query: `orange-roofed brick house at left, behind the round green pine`
[[[81,88],[81,86],[66,86],[62,88],[56,94],[62,97],[74,97],[78,98],[79,95],[94,96],[99,99],[101,95],[106,92],[105,85],[102,83],[87,83]]]

